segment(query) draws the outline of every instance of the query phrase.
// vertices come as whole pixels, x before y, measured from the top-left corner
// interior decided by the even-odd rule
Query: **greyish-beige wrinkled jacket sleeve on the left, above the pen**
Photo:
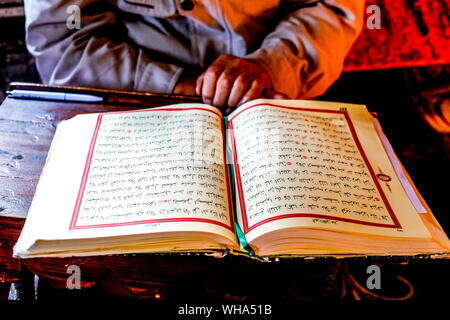
[[[76,3],[81,28],[70,30]],[[182,68],[152,61],[127,39],[114,8],[98,0],[25,0],[26,44],[44,83],[172,92]]]

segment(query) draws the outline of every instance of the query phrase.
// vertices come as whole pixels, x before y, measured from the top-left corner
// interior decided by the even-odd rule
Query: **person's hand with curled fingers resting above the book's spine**
[[[195,92],[203,102],[227,108],[227,113],[237,106],[256,99],[270,89],[267,71],[255,62],[232,55],[221,55],[197,79]]]

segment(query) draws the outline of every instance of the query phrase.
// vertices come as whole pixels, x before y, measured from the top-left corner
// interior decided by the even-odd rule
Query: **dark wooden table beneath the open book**
[[[80,91],[77,88],[17,86]],[[83,90],[81,92],[86,92]],[[337,259],[282,259],[275,263],[261,263],[236,256],[216,258],[201,254],[137,254],[22,261],[12,258],[12,247],[24,224],[59,121],[80,113],[197,101],[167,95],[115,91],[98,93],[108,95],[110,102],[84,104],[7,98],[1,105],[0,283],[28,283],[32,288],[30,277],[35,274],[46,285],[63,289],[68,278],[67,267],[77,265],[81,268],[82,288],[101,286],[108,293],[128,297],[308,300],[338,299],[341,296],[342,281],[348,280],[345,278],[348,266],[347,261]],[[386,261],[389,261],[391,269],[408,263],[407,258],[401,257],[352,260],[361,281],[367,277],[365,271],[368,265]],[[403,289],[398,295],[405,293],[401,292]],[[348,291],[344,293],[349,294]]]

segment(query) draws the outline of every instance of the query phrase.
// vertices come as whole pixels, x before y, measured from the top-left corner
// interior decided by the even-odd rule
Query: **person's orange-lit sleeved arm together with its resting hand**
[[[364,0],[286,0],[281,21],[261,46],[220,56],[197,80],[196,93],[216,106],[269,98],[308,99],[339,77],[362,28]],[[266,94],[267,96],[267,94]]]

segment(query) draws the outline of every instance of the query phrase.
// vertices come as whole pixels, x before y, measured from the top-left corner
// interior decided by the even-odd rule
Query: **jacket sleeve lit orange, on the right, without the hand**
[[[287,14],[246,58],[266,68],[275,91],[290,98],[317,97],[342,72],[362,29],[364,0],[288,0],[285,5]]]

